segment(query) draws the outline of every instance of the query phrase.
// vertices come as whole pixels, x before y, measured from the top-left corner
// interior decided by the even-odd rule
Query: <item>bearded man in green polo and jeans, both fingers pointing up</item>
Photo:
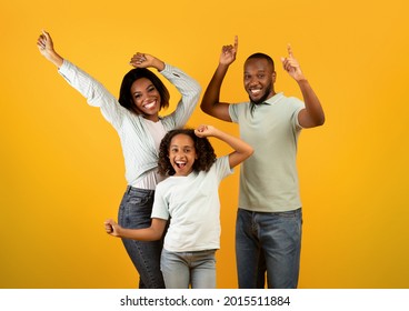
[[[220,120],[237,122],[240,137],[255,148],[240,171],[236,223],[239,288],[297,288],[301,249],[301,201],[296,167],[301,129],[322,126],[321,103],[288,46],[283,69],[298,83],[303,102],[276,93],[272,59],[263,53],[245,62],[249,101],[220,102],[220,88],[236,60],[238,38],[222,48],[219,66],[203,94],[201,109]]]

